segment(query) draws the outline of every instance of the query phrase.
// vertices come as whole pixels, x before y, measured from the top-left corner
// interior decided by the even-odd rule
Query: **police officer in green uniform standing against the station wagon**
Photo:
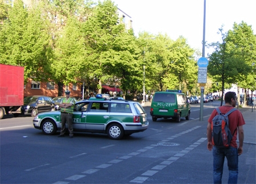
[[[66,99],[62,99],[59,107],[61,108],[61,134],[59,137],[64,137],[66,132],[66,122],[69,127],[69,137],[73,138],[72,117],[74,111],[74,100],[70,98],[70,91],[65,91]]]

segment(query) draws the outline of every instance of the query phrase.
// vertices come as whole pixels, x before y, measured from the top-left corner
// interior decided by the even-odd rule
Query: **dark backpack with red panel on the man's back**
[[[236,111],[233,108],[226,114],[222,114],[219,108],[216,108],[218,115],[216,115],[211,121],[211,142],[218,148],[228,148],[233,135],[229,129],[229,118],[230,113]]]

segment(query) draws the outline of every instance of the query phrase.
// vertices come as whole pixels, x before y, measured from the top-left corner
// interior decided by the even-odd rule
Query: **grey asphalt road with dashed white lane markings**
[[[145,132],[123,140],[105,134],[46,136],[33,117],[0,120],[0,183],[213,183],[212,152],[206,149],[207,118],[219,101],[191,105],[191,118],[150,122]],[[255,144],[239,156],[238,183],[255,183]],[[254,160],[253,160],[254,158]],[[223,183],[227,182],[225,166]]]

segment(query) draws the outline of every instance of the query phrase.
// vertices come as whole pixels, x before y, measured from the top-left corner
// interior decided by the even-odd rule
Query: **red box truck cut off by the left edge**
[[[17,117],[24,99],[24,67],[0,64],[0,119]]]

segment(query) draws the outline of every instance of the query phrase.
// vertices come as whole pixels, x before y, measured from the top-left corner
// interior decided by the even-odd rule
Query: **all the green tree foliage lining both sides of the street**
[[[83,83],[121,87],[135,99],[146,92],[182,89],[198,95],[198,50],[182,36],[148,32],[134,36],[119,20],[110,0],[97,3],[42,0],[14,6],[0,0],[0,63],[25,67],[27,78],[53,80],[62,86]],[[231,84],[255,90],[256,37],[245,22],[223,33],[222,43],[211,43],[205,91],[223,91]],[[218,86],[216,84],[219,84]],[[100,92],[100,90],[99,90]]]

